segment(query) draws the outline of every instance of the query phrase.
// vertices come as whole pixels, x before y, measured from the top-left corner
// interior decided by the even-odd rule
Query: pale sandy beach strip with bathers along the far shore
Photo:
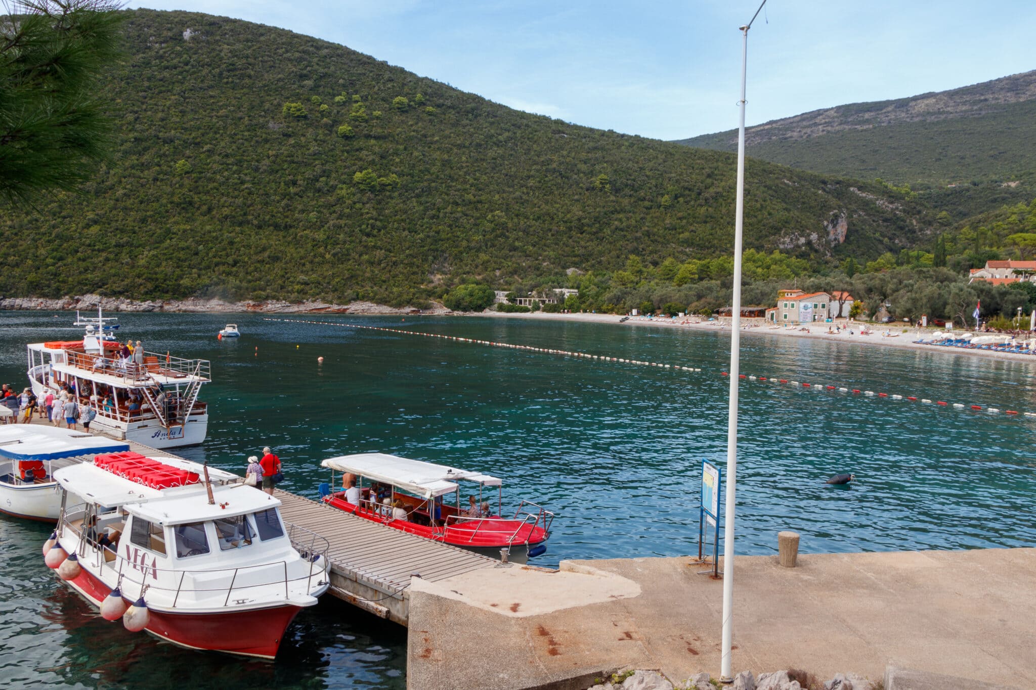
[[[476,314],[472,314],[476,316]],[[711,331],[730,332],[730,318],[721,317],[715,321],[701,321],[695,317],[668,319],[665,317],[630,317],[628,321],[620,323],[622,317],[610,313],[544,313],[536,311],[531,313],[501,313],[499,311],[484,311],[477,316],[493,317],[498,319],[538,319],[541,321],[573,321],[594,324],[614,324],[627,327],[648,327],[666,328],[670,330],[688,331]],[[840,333],[832,333],[835,326],[841,328]],[[868,334],[864,334],[866,329]],[[852,334],[850,333],[852,331]],[[860,322],[846,322],[838,320],[837,324],[814,323],[800,328],[773,326],[764,319],[742,319],[741,332],[746,337],[781,337],[781,338],[810,338],[819,340],[830,340],[833,342],[844,342],[851,344],[879,347],[879,348],[903,348],[909,350],[921,350],[923,352],[942,353],[945,355],[958,355],[961,357],[987,357],[995,359],[1006,359],[1036,363],[1036,356],[1017,353],[996,352],[990,350],[975,350],[965,348],[949,348],[941,346],[924,344],[915,340],[931,339],[940,332],[947,332],[942,328],[917,328],[905,327],[904,324],[865,324]],[[960,334],[966,331],[956,329],[953,333]]]

